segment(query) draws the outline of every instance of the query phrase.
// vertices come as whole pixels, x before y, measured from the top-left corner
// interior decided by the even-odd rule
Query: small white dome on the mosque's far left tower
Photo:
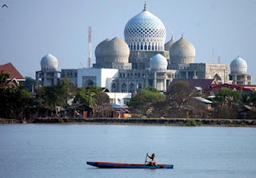
[[[46,56],[42,57],[41,60],[41,70],[42,71],[57,71],[58,70],[58,60],[56,57],[48,53]]]

